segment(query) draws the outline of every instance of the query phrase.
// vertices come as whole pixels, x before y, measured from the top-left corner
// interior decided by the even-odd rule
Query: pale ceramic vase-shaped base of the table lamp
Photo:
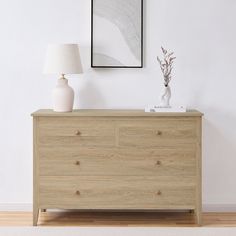
[[[74,91],[68,85],[67,79],[59,79],[52,92],[53,110],[56,112],[71,112],[74,104]]]

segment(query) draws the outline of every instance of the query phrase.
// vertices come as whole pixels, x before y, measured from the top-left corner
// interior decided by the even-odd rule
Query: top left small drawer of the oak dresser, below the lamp
[[[102,118],[39,118],[38,145],[110,147],[115,145],[113,121]]]

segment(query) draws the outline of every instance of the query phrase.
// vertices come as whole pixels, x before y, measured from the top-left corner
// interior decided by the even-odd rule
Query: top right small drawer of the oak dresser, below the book
[[[119,145],[136,148],[194,146],[197,126],[194,118],[134,120],[119,123]]]

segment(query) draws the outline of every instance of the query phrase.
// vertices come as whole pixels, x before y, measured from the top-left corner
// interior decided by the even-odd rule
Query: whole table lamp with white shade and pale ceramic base
[[[58,74],[57,86],[53,89],[53,110],[71,112],[74,104],[74,90],[68,85],[66,74],[82,74],[79,47],[77,44],[48,45],[44,74]]]

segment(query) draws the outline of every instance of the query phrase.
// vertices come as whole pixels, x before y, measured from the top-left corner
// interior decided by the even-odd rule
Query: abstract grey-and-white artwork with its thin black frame
[[[143,67],[143,0],[91,0],[91,67]]]

